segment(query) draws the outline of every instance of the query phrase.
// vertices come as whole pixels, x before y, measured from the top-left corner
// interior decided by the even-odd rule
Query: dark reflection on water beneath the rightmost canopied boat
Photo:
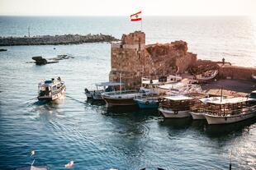
[[[207,125],[206,134],[210,136],[225,136],[231,132],[240,133],[247,126],[251,126],[256,122],[256,118],[251,118],[243,122],[236,122],[231,124],[221,124],[221,125]]]

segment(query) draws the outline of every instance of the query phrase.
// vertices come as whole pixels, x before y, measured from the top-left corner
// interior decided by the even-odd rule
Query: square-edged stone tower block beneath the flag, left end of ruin
[[[111,44],[111,72],[109,80],[133,87],[145,73],[145,33],[123,34],[121,42]]]

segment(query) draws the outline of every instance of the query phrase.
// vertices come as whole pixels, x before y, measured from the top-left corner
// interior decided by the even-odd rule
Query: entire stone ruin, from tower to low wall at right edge
[[[197,60],[197,54],[187,52],[187,43],[180,40],[170,44],[145,45],[145,33],[135,31],[123,34],[120,43],[111,44],[111,72],[109,80],[122,82],[129,87],[140,85],[141,76],[163,76],[182,74],[189,71],[200,74],[202,71],[218,69],[218,78],[251,80],[256,68],[221,65],[221,62]]]

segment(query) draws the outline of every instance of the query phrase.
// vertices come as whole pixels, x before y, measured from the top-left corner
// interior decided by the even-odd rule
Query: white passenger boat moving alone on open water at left
[[[51,80],[40,80],[37,99],[50,101],[59,99],[65,90],[66,85],[64,85],[64,81],[60,77]]]

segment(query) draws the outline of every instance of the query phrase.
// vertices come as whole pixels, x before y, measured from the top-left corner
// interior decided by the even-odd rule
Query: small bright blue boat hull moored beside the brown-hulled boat
[[[138,104],[139,108],[159,108],[158,98],[142,98],[134,100],[135,103]]]

